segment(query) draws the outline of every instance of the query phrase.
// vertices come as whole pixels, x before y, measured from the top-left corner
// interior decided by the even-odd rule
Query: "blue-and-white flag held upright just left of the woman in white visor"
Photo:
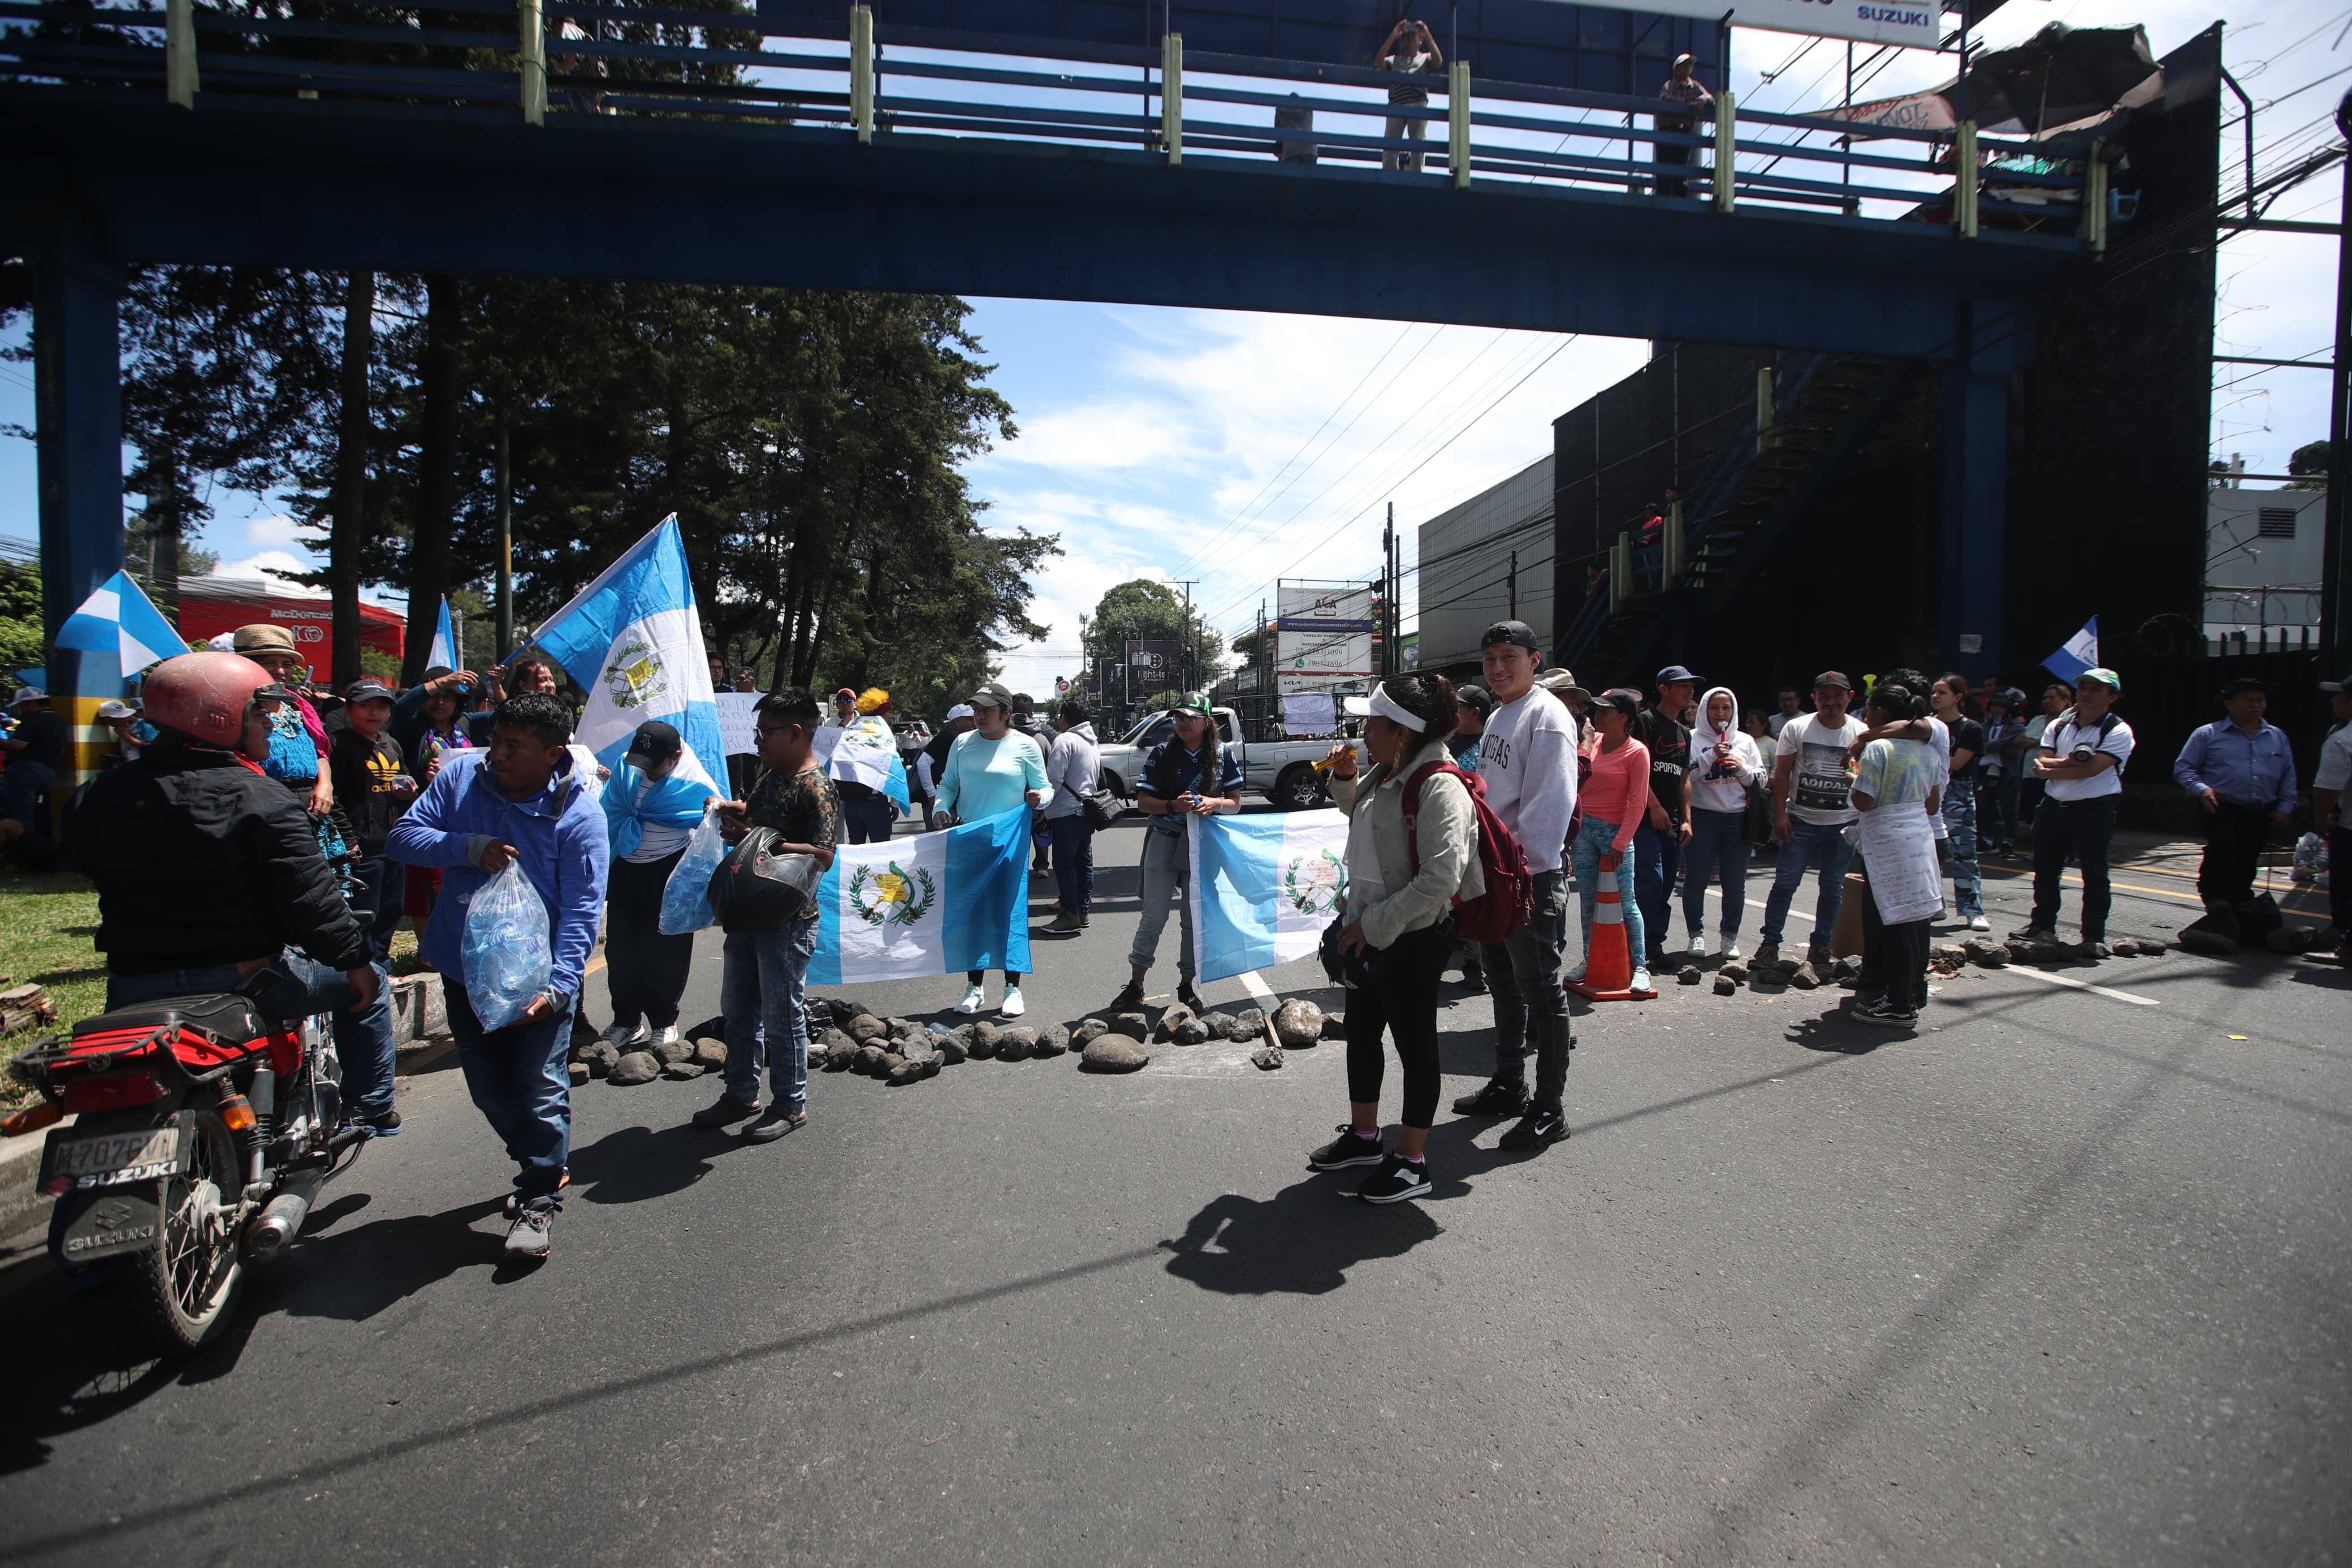
[[[1195,816],[1188,832],[1202,980],[1315,954],[1348,898],[1348,813]]]

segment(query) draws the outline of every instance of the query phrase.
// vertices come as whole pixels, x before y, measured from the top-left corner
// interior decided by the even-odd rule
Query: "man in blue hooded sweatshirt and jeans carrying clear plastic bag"
[[[572,1152],[572,1009],[581,971],[595,947],[609,860],[604,811],[583,788],[564,750],[572,710],[560,698],[527,691],[499,703],[489,719],[487,752],[449,752],[433,785],[409,806],[386,853],[442,872],[440,900],[419,952],[442,973],[449,1032],[456,1037],[466,1091],[520,1166],[508,1199],[513,1229],[508,1258],[548,1255],[548,1229],[562,1208],[564,1159]],[[482,1030],[466,999],[459,957],[466,910],[482,884],[522,863],[522,875],[548,905],[555,954],[548,990],[520,1023]]]

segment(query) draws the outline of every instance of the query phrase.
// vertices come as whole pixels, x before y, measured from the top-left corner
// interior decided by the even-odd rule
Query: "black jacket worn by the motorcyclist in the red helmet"
[[[151,745],[89,783],[66,856],[99,884],[99,952],[115,973],[275,959],[369,961],[301,802],[233,752]]]

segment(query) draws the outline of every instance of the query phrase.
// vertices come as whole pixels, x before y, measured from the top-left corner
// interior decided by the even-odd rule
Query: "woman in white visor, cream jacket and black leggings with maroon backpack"
[[[1550,703],[1550,698],[1538,698]],[[1348,813],[1348,922],[1338,950],[1348,961],[1348,1124],[1308,1154],[1317,1171],[1381,1166],[1357,1192],[1367,1204],[1395,1204],[1430,1190],[1425,1145],[1437,1121],[1437,976],[1454,957],[1454,903],[1479,898],[1486,879],[1477,856],[1477,806],[1446,771],[1446,741],[1458,717],[1444,675],[1399,675],[1348,698],[1364,719],[1371,773],[1355,776],[1355,748],[1331,748],[1331,797]],[[1406,825],[1411,823],[1411,825]],[[1404,1070],[1404,1117],[1397,1150],[1381,1150],[1381,1032],[1397,1044]]]

